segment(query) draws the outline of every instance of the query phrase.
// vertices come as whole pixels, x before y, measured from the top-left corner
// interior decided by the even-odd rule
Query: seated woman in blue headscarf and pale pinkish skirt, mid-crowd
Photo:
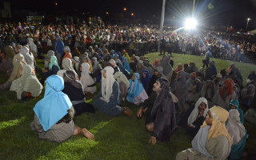
[[[146,91],[144,90],[142,83],[139,82],[139,74],[134,73],[129,79],[130,87],[128,90],[128,95],[126,97],[128,102],[132,102],[135,105],[139,105],[144,102],[148,97]]]

